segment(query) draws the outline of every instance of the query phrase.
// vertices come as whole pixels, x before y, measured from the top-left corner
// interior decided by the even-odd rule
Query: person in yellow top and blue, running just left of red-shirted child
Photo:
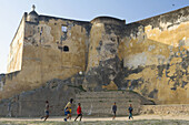
[[[71,118],[71,105],[72,105],[73,98],[70,98],[70,102],[67,103],[64,106],[64,115],[67,116],[64,118],[64,122],[67,122],[68,118]]]

